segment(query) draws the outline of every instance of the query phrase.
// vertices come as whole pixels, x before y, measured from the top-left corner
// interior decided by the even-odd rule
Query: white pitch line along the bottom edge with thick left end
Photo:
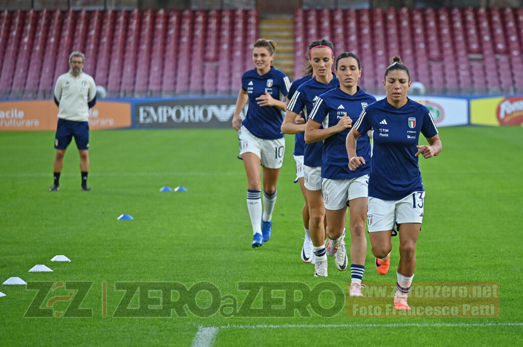
[[[397,327],[522,327],[523,322],[499,323],[391,323],[391,324],[282,324],[282,325],[225,325],[221,327],[198,327],[191,347],[212,347],[219,329],[288,329],[288,328],[397,328]]]

